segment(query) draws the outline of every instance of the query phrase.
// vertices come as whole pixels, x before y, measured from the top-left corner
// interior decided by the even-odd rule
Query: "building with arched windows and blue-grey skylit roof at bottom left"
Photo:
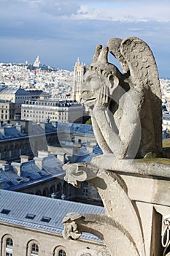
[[[83,248],[106,252],[96,236],[84,233],[80,241],[66,241],[61,234],[70,210],[101,214],[103,207],[1,189],[0,198],[1,256],[72,256]]]

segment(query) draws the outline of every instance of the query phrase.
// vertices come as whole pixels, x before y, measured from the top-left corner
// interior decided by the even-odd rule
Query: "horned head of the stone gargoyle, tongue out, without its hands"
[[[119,69],[108,62],[108,52],[107,46],[97,45],[93,62],[85,73],[81,86],[81,97],[82,102],[88,108],[93,108],[93,105],[96,104],[101,87],[107,87],[108,97],[112,97],[113,91],[122,80]]]

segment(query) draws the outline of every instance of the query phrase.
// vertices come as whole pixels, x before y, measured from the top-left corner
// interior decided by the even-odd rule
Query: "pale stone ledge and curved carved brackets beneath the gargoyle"
[[[96,187],[106,214],[72,214],[64,225],[73,225],[73,233],[98,236],[112,256],[162,256],[163,217],[170,214],[170,160],[111,157],[95,157],[72,170],[65,165],[67,181],[78,185],[86,180]]]

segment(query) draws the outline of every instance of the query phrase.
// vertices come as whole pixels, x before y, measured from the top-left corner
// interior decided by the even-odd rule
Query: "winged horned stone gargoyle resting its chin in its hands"
[[[161,89],[155,59],[139,38],[98,45],[82,83],[98,145],[118,159],[161,154]],[[112,53],[123,73],[108,62]]]

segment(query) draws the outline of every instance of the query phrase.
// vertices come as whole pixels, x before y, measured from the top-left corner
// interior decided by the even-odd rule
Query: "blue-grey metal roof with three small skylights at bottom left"
[[[3,209],[9,210],[9,214],[1,213]],[[0,222],[61,233],[63,217],[69,212],[104,214],[104,207],[0,189]],[[27,219],[27,214],[34,219]],[[50,222],[42,222],[42,217],[50,218]],[[99,240],[88,233],[83,233],[82,238]]]

